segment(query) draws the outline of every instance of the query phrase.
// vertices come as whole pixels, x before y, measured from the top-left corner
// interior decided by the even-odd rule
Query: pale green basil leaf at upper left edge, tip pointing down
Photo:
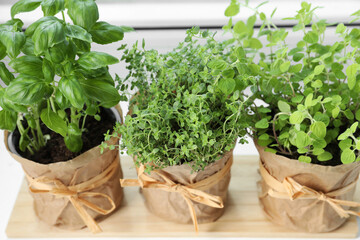
[[[14,59],[20,54],[20,50],[25,44],[25,34],[22,32],[0,31],[0,41],[6,47],[10,58]]]

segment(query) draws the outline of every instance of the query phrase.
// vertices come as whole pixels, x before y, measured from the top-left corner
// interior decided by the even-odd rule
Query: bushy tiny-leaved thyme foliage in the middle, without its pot
[[[214,34],[193,28],[166,54],[137,45],[125,49],[129,75],[119,83],[139,92],[125,124],[106,139],[122,135],[120,148],[147,171],[181,164],[198,171],[233,149],[238,137],[243,143],[248,126],[242,91],[248,83],[234,80],[235,66],[225,60],[236,56],[224,55],[226,47]]]

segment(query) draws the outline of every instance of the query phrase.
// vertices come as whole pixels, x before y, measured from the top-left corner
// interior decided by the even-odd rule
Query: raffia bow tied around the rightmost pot
[[[265,183],[270,187],[267,194],[269,194],[271,197],[289,200],[315,199],[318,201],[327,202],[342,218],[348,218],[350,215],[360,216],[359,212],[346,210],[343,208],[344,206],[360,207],[360,203],[336,199],[337,196],[344,195],[353,189],[356,185],[357,179],[344,188],[328,193],[323,193],[310,187],[303,186],[291,177],[284,178],[282,182],[278,181],[265,169],[261,161],[260,174],[263,177]]]

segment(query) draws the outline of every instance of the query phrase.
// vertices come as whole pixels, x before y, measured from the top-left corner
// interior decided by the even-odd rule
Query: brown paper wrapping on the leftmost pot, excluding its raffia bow
[[[117,110],[122,116],[119,106],[117,107]],[[39,164],[10,152],[8,135],[9,133],[5,131],[6,149],[9,151],[10,155],[22,165],[22,168],[30,177],[38,178],[45,176],[50,179],[58,179],[66,186],[69,185],[75,173],[77,176],[74,183],[79,184],[99,175],[114,161],[120,161],[118,150],[107,149],[101,154],[100,147],[97,146],[66,162]],[[108,141],[108,144],[117,144],[117,142],[118,139],[112,138]],[[91,189],[89,192],[108,195],[114,201],[117,208],[120,206],[123,199],[123,189],[119,184],[119,179],[122,178],[122,176],[123,174],[119,164],[116,172],[105,184],[98,188]],[[40,220],[48,225],[70,230],[86,227],[84,221],[81,219],[68,198],[58,197],[48,193],[34,194],[30,192],[30,194],[34,199],[35,214]],[[111,204],[104,198],[87,197],[86,200],[103,209],[111,209]],[[106,217],[86,207],[85,210],[97,221]]]

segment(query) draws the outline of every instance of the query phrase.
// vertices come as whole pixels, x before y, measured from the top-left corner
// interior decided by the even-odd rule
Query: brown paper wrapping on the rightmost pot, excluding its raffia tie
[[[285,177],[292,177],[303,186],[318,192],[329,193],[356,181],[359,176],[360,162],[338,166],[321,166],[302,163],[274,153],[265,152],[256,145],[260,161],[265,169],[282,182]],[[330,232],[340,227],[347,220],[325,201],[319,199],[279,199],[271,197],[269,186],[262,178],[258,184],[259,201],[265,215],[274,223],[302,232]],[[353,200],[355,188],[336,199]],[[348,209],[348,207],[343,207]]]

